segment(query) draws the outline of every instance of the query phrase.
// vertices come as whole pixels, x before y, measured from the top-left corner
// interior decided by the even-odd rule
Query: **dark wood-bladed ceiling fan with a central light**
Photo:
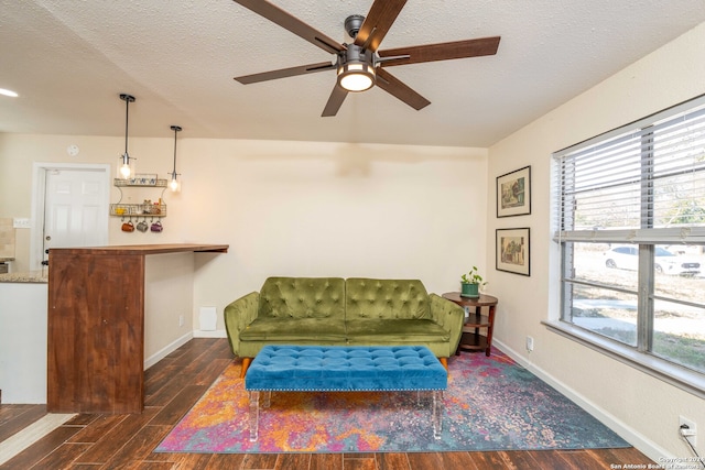
[[[495,55],[499,47],[500,37],[492,36],[379,51],[380,43],[406,3],[406,0],[375,0],[367,18],[359,14],[348,17],[345,20],[345,30],[355,40],[352,44],[339,44],[269,1],[234,1],[322,50],[335,54],[335,62],[321,62],[235,77],[237,81],[249,85],[315,72],[336,70],[337,81],[321,114],[323,117],[335,116],[348,91],[365,91],[375,85],[412,108],[420,110],[431,105],[431,101],[387,72],[387,67]]]

